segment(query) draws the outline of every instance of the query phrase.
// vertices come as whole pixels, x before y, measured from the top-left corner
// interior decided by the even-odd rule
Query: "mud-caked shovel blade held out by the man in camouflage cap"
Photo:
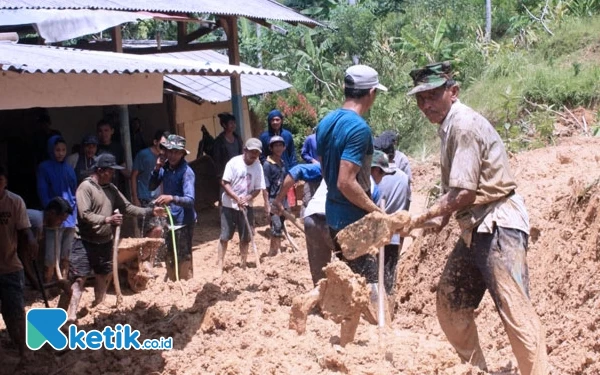
[[[389,243],[395,232],[402,231],[409,225],[408,211],[393,215],[374,211],[342,229],[336,238],[344,258],[352,260],[365,254],[377,254],[379,248]]]

